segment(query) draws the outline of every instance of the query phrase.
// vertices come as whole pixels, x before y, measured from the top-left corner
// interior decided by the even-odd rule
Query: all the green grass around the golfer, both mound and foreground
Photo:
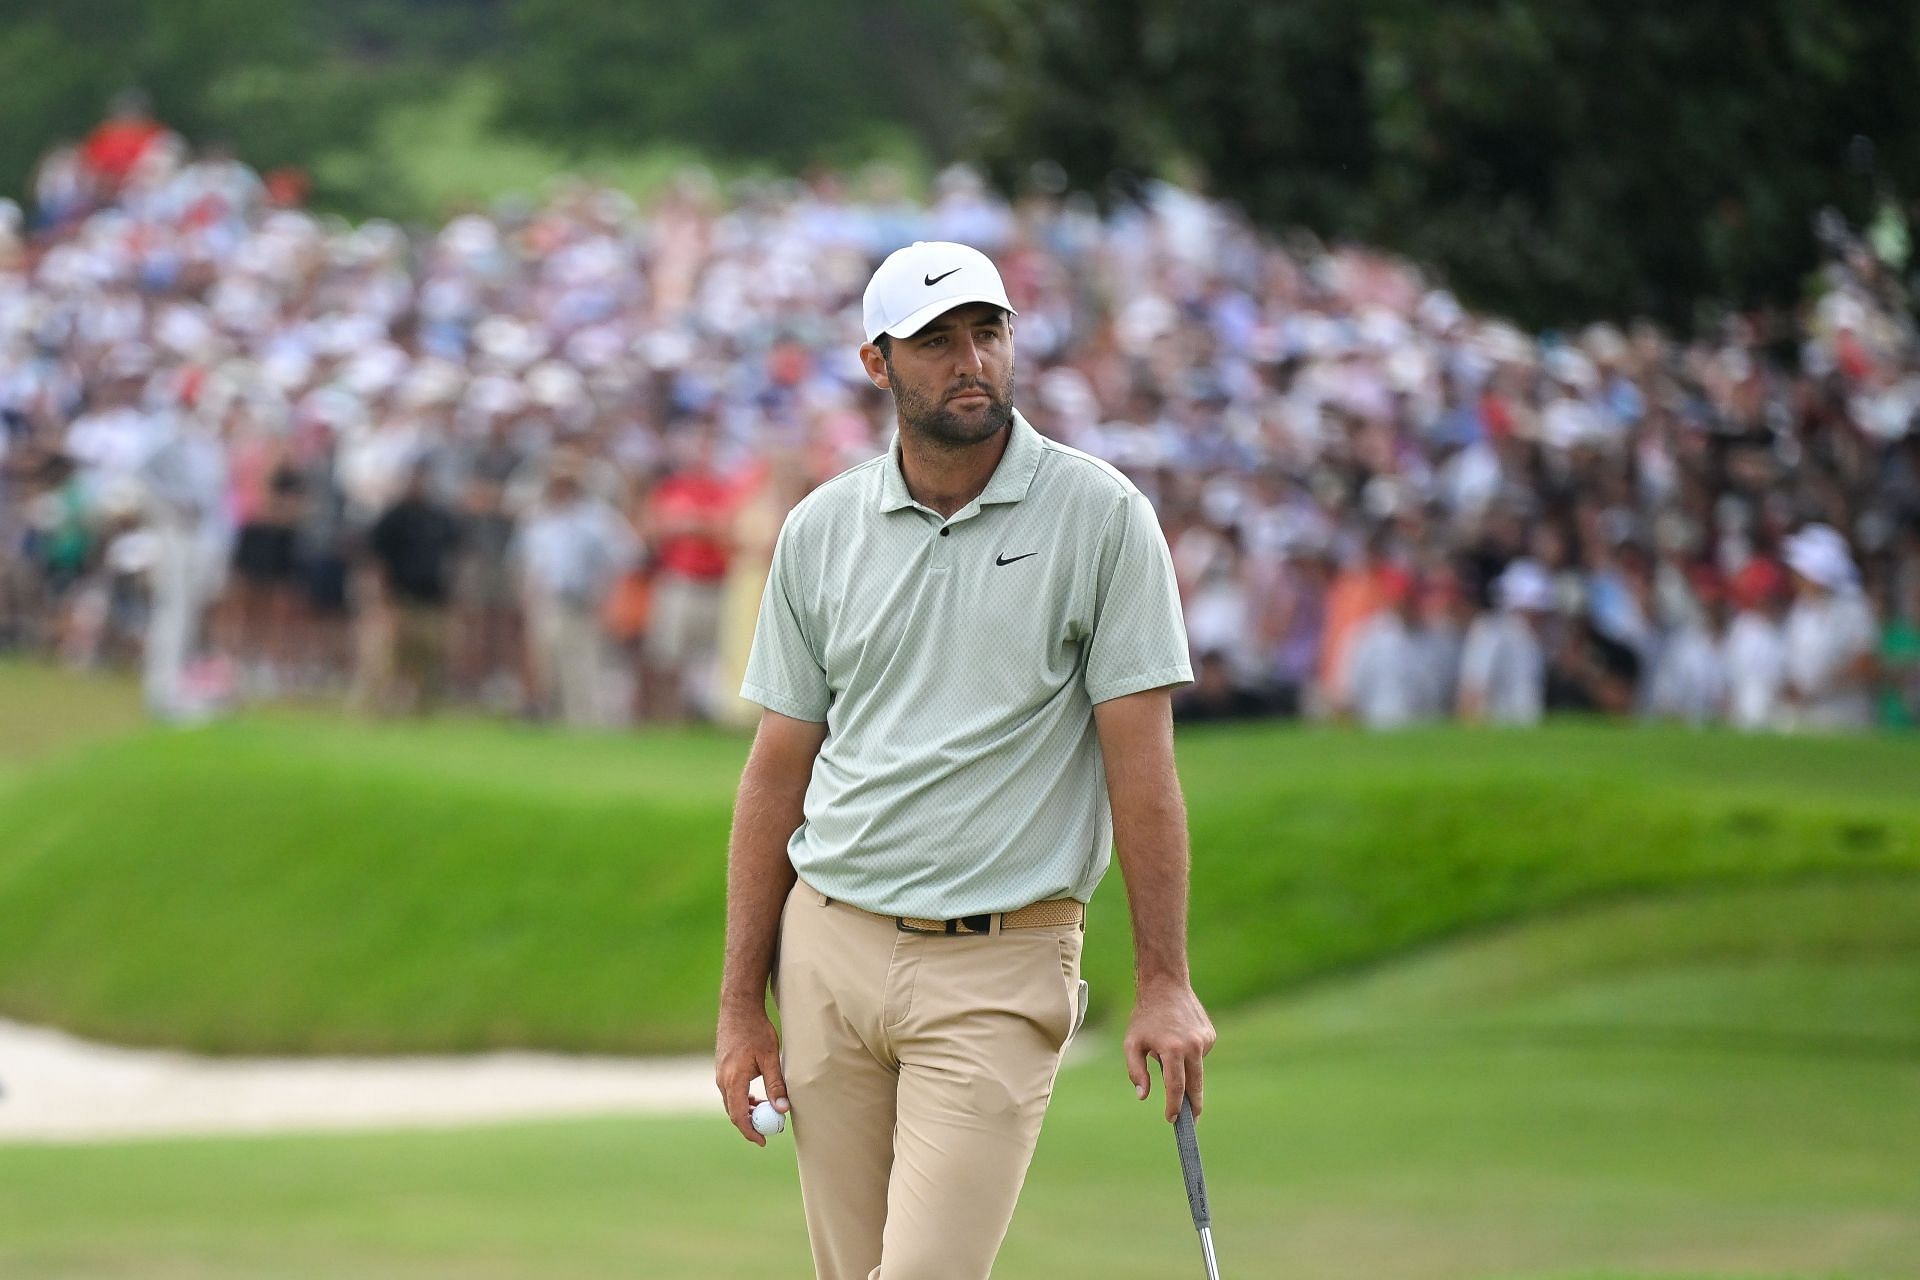
[[[100,733],[0,771],[0,1013],[232,1050],[705,1036],[716,956],[680,952],[718,944],[741,743]],[[1920,1276],[1914,743],[1261,727],[1181,762],[1227,1276]],[[996,1276],[1200,1274],[1119,1063],[1119,889]],[[0,1276],[810,1274],[791,1142],[718,1109],[0,1148]]]

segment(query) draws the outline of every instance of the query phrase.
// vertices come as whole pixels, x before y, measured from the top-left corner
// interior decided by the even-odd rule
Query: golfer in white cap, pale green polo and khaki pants
[[[981,1280],[1085,1017],[1085,902],[1119,848],[1127,1075],[1200,1111],[1187,975],[1188,683],[1165,537],[1117,470],[1014,411],[1014,309],[977,249],[874,274],[887,455],[787,516],[741,697],[764,710],[728,856],[716,1082],[791,1113],[824,1280]],[[780,1032],[766,1013],[772,981]],[[781,1044],[781,1036],[785,1042]]]

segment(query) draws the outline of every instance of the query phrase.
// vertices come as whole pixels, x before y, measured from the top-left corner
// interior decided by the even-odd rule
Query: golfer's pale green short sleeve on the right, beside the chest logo
[[[1100,578],[1087,637],[1087,697],[1106,702],[1142,689],[1190,685],[1192,679],[1167,537],[1146,497],[1129,489],[1100,535]]]

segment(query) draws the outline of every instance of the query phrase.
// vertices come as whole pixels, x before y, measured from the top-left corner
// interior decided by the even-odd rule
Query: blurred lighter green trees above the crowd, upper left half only
[[[572,157],[950,155],[968,48],[956,10],[925,0],[0,0],[0,192],[25,194],[54,142],[138,86],[194,144],[313,171],[323,207],[420,215],[371,134],[455,71],[499,86],[505,130]]]

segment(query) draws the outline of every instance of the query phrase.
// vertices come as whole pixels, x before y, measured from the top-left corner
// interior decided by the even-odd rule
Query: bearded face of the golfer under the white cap
[[[950,449],[991,439],[1014,420],[1014,328],[993,303],[966,303],[887,355],[866,344],[860,363],[893,391],[900,426]]]

